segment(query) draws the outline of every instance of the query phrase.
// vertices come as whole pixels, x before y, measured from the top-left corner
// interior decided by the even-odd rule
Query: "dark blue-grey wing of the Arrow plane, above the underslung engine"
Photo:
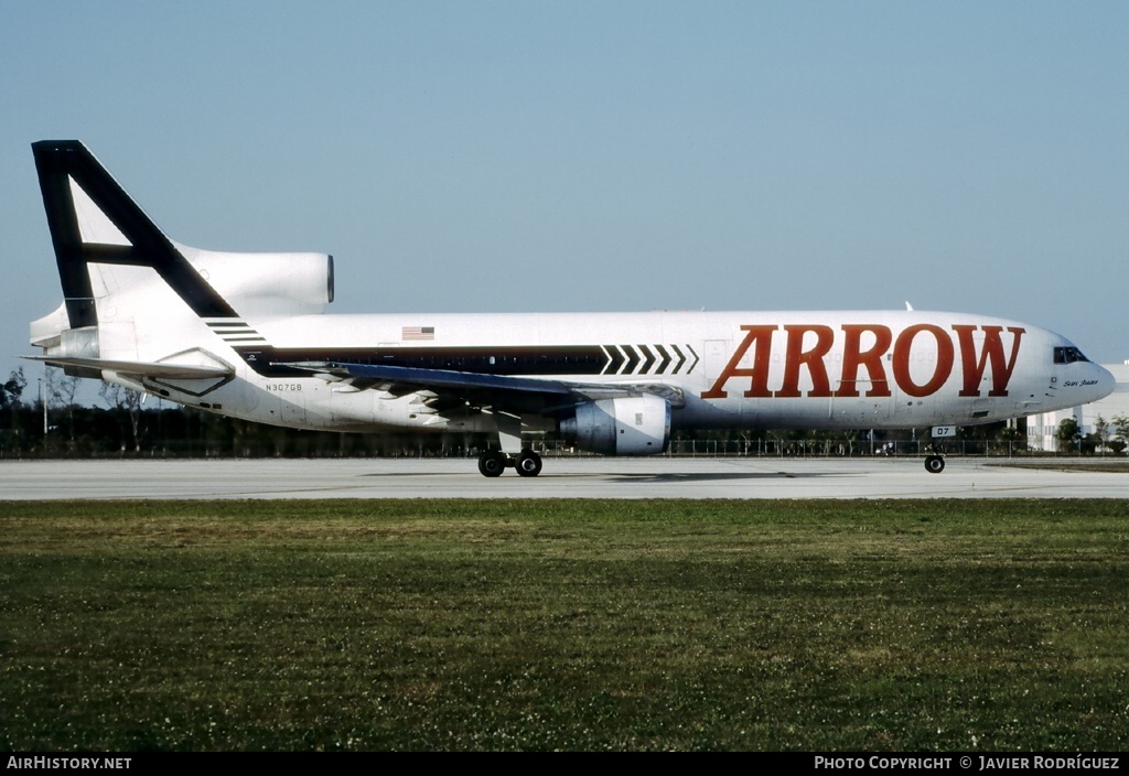
[[[473,405],[502,412],[553,414],[583,402],[640,394],[662,396],[675,407],[685,404],[679,389],[662,383],[587,383],[449,369],[335,362],[297,362],[286,365],[349,380],[357,388],[371,388],[394,395],[428,391],[435,395],[431,404],[437,405],[437,408],[445,405]]]

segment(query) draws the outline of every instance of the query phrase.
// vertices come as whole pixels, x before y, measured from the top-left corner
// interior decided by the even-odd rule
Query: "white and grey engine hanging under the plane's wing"
[[[588,452],[656,456],[671,439],[671,403],[650,394],[585,402],[561,421],[560,432]]]

